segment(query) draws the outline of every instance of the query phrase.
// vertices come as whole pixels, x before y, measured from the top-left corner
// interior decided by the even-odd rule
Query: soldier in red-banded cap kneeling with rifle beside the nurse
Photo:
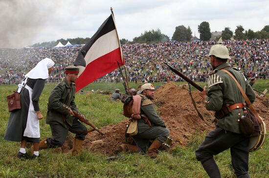
[[[39,148],[41,150],[63,146],[67,133],[70,131],[76,134],[71,150],[71,154],[76,155],[81,151],[83,141],[87,135],[87,133],[75,132],[86,132],[87,128],[72,116],[72,110],[79,113],[74,102],[74,81],[78,78],[79,68],[70,65],[65,68],[65,74],[66,77],[52,90],[48,99],[46,123],[50,125],[52,137],[42,140]],[[64,123],[63,118],[65,118],[70,128]]]

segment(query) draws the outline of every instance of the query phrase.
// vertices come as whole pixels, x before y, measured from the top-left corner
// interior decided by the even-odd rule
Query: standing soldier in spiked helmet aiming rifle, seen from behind
[[[254,102],[255,94],[252,87],[247,83],[247,79],[241,72],[230,68],[229,64],[226,63],[227,59],[231,58],[229,57],[228,49],[223,44],[213,45],[208,57],[210,57],[210,63],[213,67],[213,71],[209,73],[209,90],[206,91],[205,87],[200,92],[200,96],[205,99],[207,110],[218,113],[222,107],[231,108],[232,105],[239,106],[245,103],[245,99],[235,81],[221,69],[229,71],[240,83],[251,103]],[[195,152],[197,160],[201,161],[210,178],[221,178],[213,155],[217,155],[229,148],[236,176],[238,178],[250,178],[248,174],[249,138],[240,132],[238,122],[238,119],[244,115],[243,109],[236,106],[230,110],[228,114],[217,121],[217,127],[207,134]]]

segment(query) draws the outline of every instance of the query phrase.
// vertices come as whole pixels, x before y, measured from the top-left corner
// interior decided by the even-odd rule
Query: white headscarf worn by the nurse
[[[48,78],[48,68],[52,67],[54,62],[45,58],[37,63],[37,65],[28,72],[25,77],[30,79],[47,79]]]

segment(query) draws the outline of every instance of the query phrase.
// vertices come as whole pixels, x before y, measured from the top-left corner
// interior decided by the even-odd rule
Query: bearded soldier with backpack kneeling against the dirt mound
[[[152,123],[152,127],[145,122],[144,119],[137,120],[138,134],[133,136],[135,145],[121,144],[118,146],[117,151],[131,151],[146,153],[151,158],[156,158],[157,149],[165,142],[170,134],[170,131],[166,128],[165,122],[157,115],[154,109],[155,88],[151,83],[145,83],[141,87],[141,108],[140,115],[146,115]],[[150,140],[154,141],[149,146]]]

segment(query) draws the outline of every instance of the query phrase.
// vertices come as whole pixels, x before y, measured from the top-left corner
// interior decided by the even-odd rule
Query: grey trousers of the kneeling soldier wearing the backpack
[[[139,128],[138,128],[139,129]],[[167,140],[170,131],[166,127],[153,126],[145,130],[142,133],[138,133],[133,136],[135,144],[138,146],[140,153],[146,153],[149,147],[150,139],[157,139],[159,142],[163,143]]]

